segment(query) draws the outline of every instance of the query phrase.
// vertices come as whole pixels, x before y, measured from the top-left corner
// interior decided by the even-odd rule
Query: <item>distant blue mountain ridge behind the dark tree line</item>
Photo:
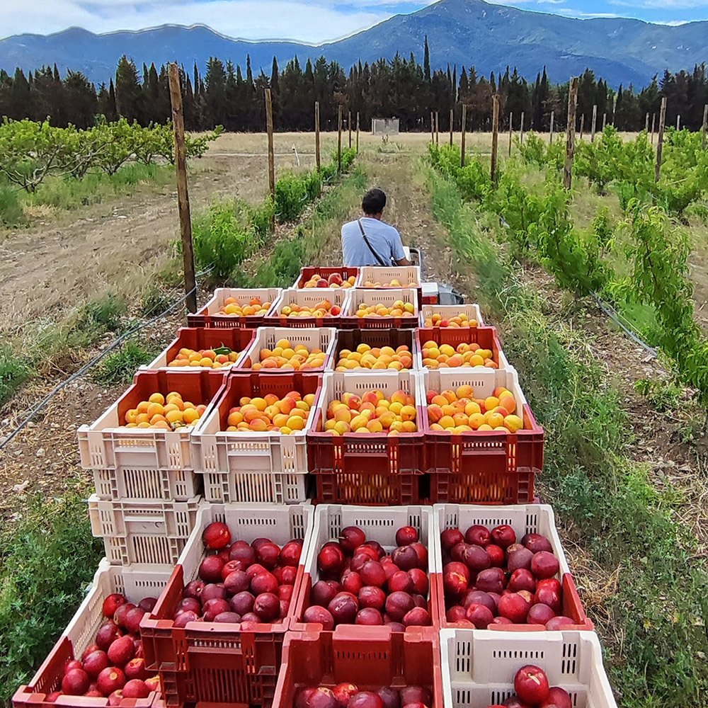
[[[708,21],[679,26],[654,25],[627,18],[578,20],[547,13],[493,5],[484,0],[440,0],[409,15],[396,15],[346,39],[307,45],[281,40],[252,42],[232,39],[205,25],[161,25],[138,31],[96,35],[70,28],[53,35],[23,34],[0,40],[0,68],[26,71],[57,64],[74,69],[97,84],[115,74],[126,54],[141,69],[175,59],[200,70],[211,56],[245,67],[251,55],[254,74],[270,74],[273,55],[282,67],[297,55],[301,63],[324,55],[348,71],[361,60],[392,59],[396,52],[423,58],[426,35],[433,69],[474,65],[477,74],[518,67],[527,79],[547,67],[549,79],[563,82],[590,67],[610,86],[635,88],[654,74],[692,69],[708,62]]]

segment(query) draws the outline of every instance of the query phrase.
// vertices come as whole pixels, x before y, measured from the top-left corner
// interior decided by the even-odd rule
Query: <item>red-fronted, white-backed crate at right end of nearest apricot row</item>
[[[490,371],[493,377],[489,377]],[[434,503],[525,504],[534,499],[535,475],[543,467],[544,432],[535,421],[519,386],[513,367],[430,369],[423,372],[423,389],[453,391],[471,384],[474,396],[490,396],[498,386],[513,393],[515,413],[524,428],[516,433],[474,430],[448,433],[432,430],[424,411],[426,433],[425,469],[430,475],[430,498]]]

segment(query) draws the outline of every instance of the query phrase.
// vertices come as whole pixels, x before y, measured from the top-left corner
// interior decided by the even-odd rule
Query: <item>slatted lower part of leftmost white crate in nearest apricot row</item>
[[[106,501],[188,501],[201,493],[202,479],[191,469],[93,468],[96,496]]]

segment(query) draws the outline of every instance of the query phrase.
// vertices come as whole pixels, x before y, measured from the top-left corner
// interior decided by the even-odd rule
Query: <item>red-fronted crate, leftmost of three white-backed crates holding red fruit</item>
[[[169,582],[151,615],[140,626],[145,662],[159,670],[167,705],[185,703],[240,703],[269,705],[280,668],[282,639],[294,615],[295,603],[282,622],[258,624],[242,632],[241,624],[190,622],[174,627],[173,615],[186,583],[198,576],[206,552],[202,532],[212,521],[222,521],[232,542],[268,537],[282,547],[304,539],[292,597],[302,582],[304,555],[312,535],[314,509],[309,504],[205,504]]]

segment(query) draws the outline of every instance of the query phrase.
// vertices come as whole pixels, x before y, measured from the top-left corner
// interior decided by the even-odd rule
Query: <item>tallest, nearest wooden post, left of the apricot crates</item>
[[[177,64],[170,64],[170,100],[172,102],[172,127],[175,138],[175,169],[177,172],[177,209],[179,229],[182,236],[182,259],[184,263],[184,291],[187,295],[188,312],[197,312],[197,277],[194,269],[194,244],[192,242],[192,217],[189,211],[187,188],[187,149],[184,144],[184,115],[182,92],[179,85]]]

